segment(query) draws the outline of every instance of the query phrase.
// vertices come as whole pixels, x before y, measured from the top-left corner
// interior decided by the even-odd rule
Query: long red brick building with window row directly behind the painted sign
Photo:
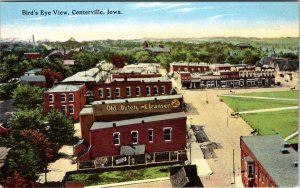
[[[167,77],[115,79],[110,83],[95,84],[94,100],[122,99],[170,95],[172,83]]]

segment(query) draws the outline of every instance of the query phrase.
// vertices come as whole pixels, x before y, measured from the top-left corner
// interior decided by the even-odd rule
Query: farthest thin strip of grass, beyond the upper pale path
[[[272,98],[289,98],[298,99],[298,91],[278,91],[278,92],[260,92],[260,93],[243,93],[238,94],[243,96],[256,96],[256,97],[272,97]]]

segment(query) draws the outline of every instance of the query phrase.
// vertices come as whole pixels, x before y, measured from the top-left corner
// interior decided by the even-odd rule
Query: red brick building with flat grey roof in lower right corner
[[[242,136],[240,147],[245,187],[297,187],[298,153],[279,136]]]

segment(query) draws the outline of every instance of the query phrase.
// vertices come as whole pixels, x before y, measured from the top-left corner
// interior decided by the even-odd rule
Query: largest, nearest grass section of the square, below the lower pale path
[[[298,110],[241,114],[242,118],[260,135],[278,133],[282,138],[298,130]]]

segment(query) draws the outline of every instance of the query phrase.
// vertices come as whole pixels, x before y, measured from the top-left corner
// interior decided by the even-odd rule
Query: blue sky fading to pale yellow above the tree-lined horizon
[[[0,19],[1,39],[299,37],[298,2],[0,2]]]

